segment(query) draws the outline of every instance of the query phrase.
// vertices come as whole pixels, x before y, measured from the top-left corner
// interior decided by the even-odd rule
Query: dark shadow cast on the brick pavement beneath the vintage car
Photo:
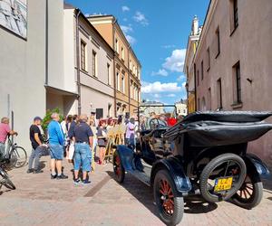
[[[107,171],[114,179],[114,174],[111,171]],[[131,193],[139,202],[141,202],[150,212],[159,218],[156,211],[156,206],[153,202],[153,193],[151,188],[141,181],[137,180],[130,174],[126,174],[124,183],[121,184],[129,193]],[[216,203],[205,202],[201,196],[187,197],[184,201],[184,212],[191,214],[212,212],[218,208]]]

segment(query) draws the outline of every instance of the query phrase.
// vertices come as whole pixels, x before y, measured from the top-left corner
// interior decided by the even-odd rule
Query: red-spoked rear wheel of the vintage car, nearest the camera
[[[179,197],[170,174],[160,170],[153,184],[154,200],[159,212],[160,220],[167,225],[178,224],[183,216],[183,197]]]

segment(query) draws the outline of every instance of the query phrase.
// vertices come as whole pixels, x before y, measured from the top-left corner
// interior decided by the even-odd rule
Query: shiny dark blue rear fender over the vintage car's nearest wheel
[[[177,157],[169,157],[161,159],[152,166],[151,170],[151,185],[154,182],[157,172],[161,169],[169,171],[171,178],[176,185],[177,193],[180,195],[187,195],[191,190],[189,177],[184,173],[182,162]]]

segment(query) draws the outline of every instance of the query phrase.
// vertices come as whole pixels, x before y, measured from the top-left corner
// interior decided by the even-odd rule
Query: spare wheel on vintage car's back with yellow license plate
[[[200,174],[200,192],[208,202],[228,200],[237,193],[246,173],[247,167],[240,156],[230,153],[219,155]]]

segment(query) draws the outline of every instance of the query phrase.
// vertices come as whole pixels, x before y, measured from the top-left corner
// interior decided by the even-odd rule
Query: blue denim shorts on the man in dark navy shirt
[[[92,153],[91,147],[87,144],[77,143],[74,145],[73,169],[79,170],[82,166],[83,171],[91,171]]]

